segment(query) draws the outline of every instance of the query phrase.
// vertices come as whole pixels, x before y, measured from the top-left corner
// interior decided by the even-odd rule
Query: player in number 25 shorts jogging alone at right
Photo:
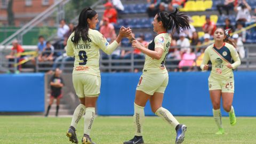
[[[223,108],[229,113],[230,124],[235,125],[236,116],[232,106],[235,88],[233,69],[237,68],[241,61],[235,49],[235,41],[229,38],[228,31],[225,32],[224,29],[218,28],[214,32],[214,40],[214,44],[208,46],[204,52],[201,69],[207,70],[208,61],[212,62],[212,71],[208,78],[212,112],[219,128],[216,134],[223,134],[220,98],[222,98]],[[231,63],[232,60],[235,62]]]

